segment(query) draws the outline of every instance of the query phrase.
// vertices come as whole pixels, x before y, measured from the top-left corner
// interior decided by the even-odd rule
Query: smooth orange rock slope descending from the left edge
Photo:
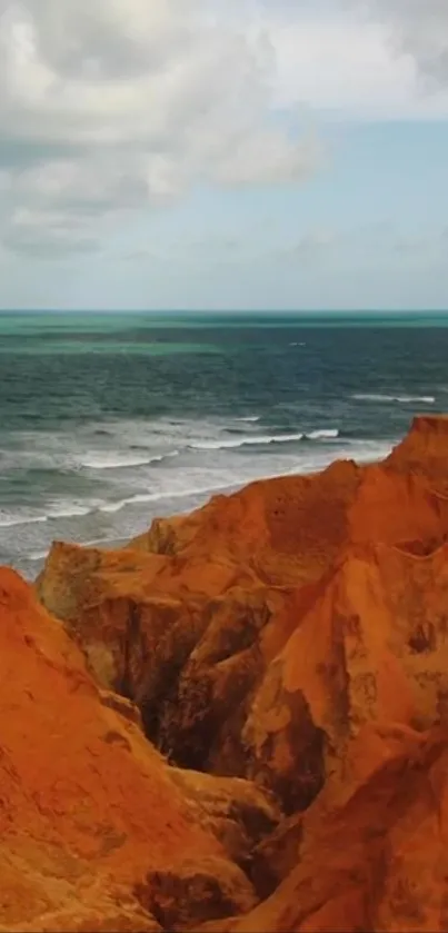
[[[276,811],[245,782],[210,777],[201,803],[202,775],[171,777],[131,705],[98,689],[62,626],[6,569],[0,656],[1,930],[159,930],[151,912],[176,915],[168,890],[160,904],[163,876],[209,892],[206,915],[187,897],[190,921],[255,903],[226,833],[243,832],[250,806],[266,832]],[[253,844],[246,830],[236,857]]]

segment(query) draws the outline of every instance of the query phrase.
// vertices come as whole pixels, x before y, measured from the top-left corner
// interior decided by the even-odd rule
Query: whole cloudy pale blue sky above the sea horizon
[[[447,0],[0,0],[0,308],[448,309]]]

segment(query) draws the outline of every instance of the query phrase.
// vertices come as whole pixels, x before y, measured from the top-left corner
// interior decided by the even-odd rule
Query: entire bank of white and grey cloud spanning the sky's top
[[[0,239],[57,256],[198,183],[301,182],[321,152],[299,115],[446,118],[418,81],[445,73],[445,0],[365,7],[0,0]]]

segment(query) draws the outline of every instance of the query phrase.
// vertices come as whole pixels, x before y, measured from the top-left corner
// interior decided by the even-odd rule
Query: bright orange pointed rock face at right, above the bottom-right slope
[[[365,723],[428,728],[447,714],[448,547],[417,557],[358,545],[269,665],[242,740],[252,773],[270,772],[293,810],[322,775],[347,777]]]

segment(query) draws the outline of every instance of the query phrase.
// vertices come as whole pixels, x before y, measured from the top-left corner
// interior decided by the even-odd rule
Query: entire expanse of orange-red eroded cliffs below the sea
[[[0,568],[1,931],[448,929],[448,417]]]

